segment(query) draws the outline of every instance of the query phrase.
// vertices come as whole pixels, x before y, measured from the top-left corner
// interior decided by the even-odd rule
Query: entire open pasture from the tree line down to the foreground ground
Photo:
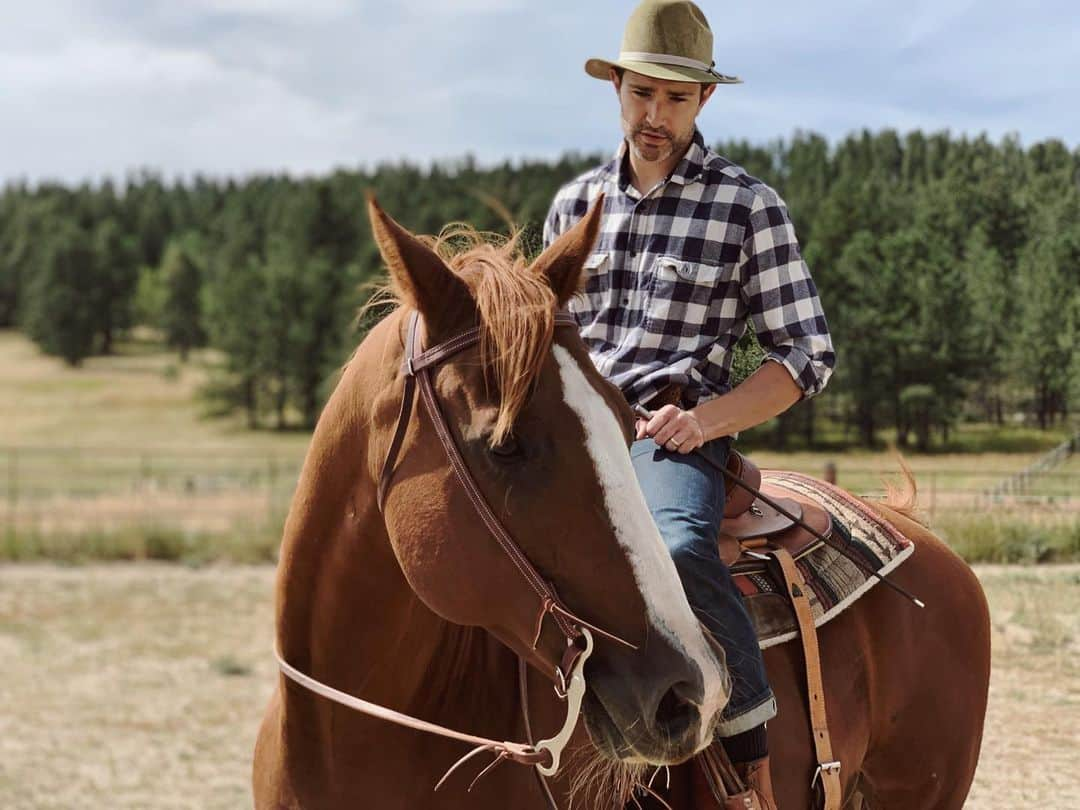
[[[201,418],[208,355],[121,348],[71,370],[0,332],[0,561],[29,561],[0,563],[5,810],[249,806],[274,681],[267,563],[308,437]],[[969,559],[1077,558],[1080,457],[1022,497],[981,500],[1064,435],[909,456],[923,511]],[[887,453],[754,458],[816,475],[833,461],[864,494],[899,469]],[[995,658],[969,807],[1078,807],[1080,566],[976,570]]]

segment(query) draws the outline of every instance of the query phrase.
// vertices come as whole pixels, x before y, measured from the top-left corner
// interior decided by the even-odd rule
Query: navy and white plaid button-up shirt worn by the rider
[[[631,404],[667,383],[689,404],[731,390],[747,320],[767,355],[820,392],[836,362],[818,291],[775,191],[693,141],[648,193],[631,185],[623,140],[613,160],[555,195],[543,243],[573,226],[602,191],[600,233],[584,289],[569,302],[593,363]]]

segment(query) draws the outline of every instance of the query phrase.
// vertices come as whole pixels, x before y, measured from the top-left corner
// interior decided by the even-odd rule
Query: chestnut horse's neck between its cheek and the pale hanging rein
[[[498,718],[490,733],[511,739],[519,714],[512,653],[416,596],[376,502],[374,404],[360,392],[394,384],[379,375],[397,365],[382,362],[396,325],[380,327],[389,337],[373,333],[361,347],[312,436],[282,541],[278,644],[289,663],[338,689],[457,728]]]

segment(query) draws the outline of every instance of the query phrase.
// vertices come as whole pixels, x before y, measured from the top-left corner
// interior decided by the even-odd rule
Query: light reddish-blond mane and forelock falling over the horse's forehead
[[[542,274],[529,270],[521,237],[519,229],[500,237],[463,222],[447,225],[437,237],[418,237],[464,282],[476,303],[485,380],[499,395],[492,446],[512,432],[555,330],[555,294]],[[392,284],[377,288],[361,316],[388,302],[404,302]]]

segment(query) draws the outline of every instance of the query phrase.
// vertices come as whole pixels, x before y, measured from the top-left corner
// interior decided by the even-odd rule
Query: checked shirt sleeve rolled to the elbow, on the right
[[[804,399],[821,393],[836,365],[833,339],[787,207],[771,190],[754,200],[741,261],[742,299],[762,362],[783,365]]]

